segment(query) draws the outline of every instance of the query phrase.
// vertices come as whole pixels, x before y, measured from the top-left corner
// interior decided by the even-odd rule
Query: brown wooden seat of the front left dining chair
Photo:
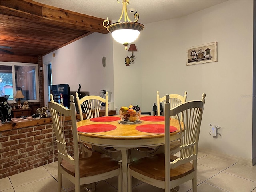
[[[75,176],[75,166],[62,160],[60,165],[66,172]],[[80,177],[88,177],[106,173],[115,169],[119,169],[118,161],[113,158],[101,154],[99,152],[92,152],[89,156],[79,158],[79,173]]]

